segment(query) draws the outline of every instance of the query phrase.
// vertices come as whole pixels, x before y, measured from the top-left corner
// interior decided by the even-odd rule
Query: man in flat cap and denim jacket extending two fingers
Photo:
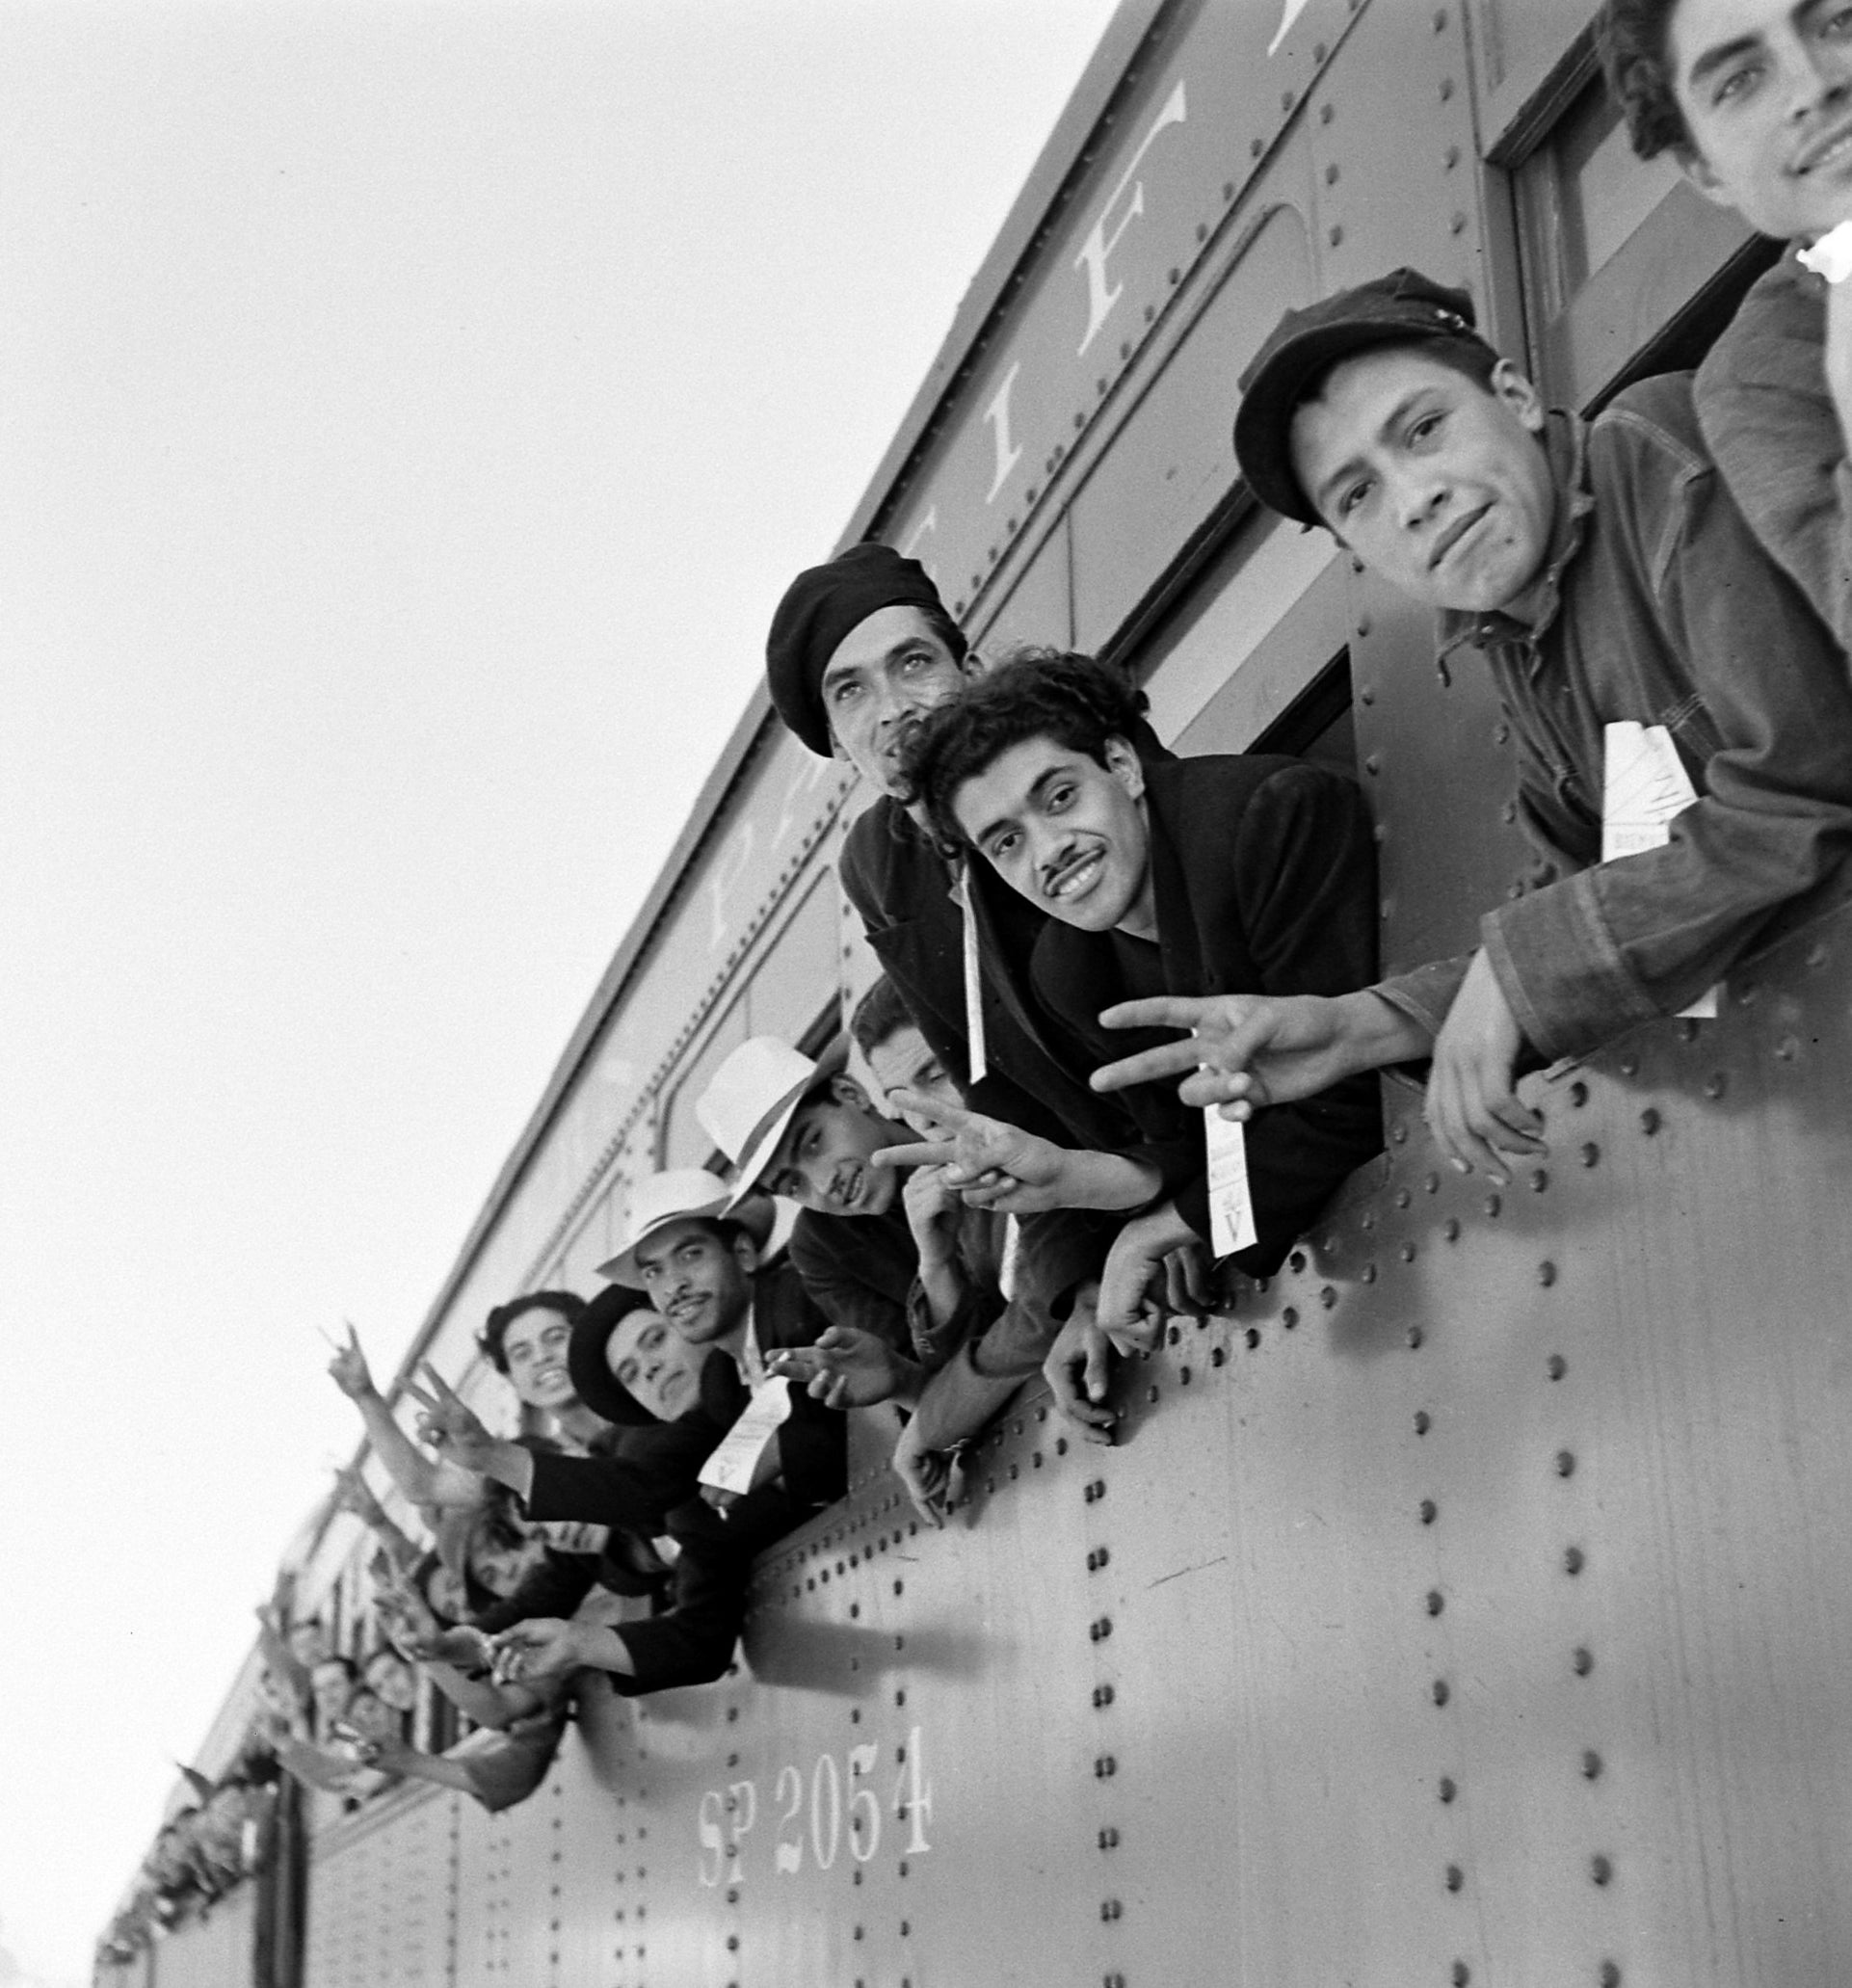
[[[1520,1068],[1701,1000],[1852,851],[1838,648],[1723,487],[1689,376],[1592,423],[1546,412],[1472,298],[1417,270],[1288,312],[1234,445],[1262,501],[1439,610],[1441,654],[1480,650],[1554,881],[1488,911],[1470,956],[1359,994],[1129,1002],[1115,1026],[1194,1036],[1095,1081],[1188,1074],[1184,1101],[1240,1117],[1431,1056],[1443,1151],[1502,1179],[1542,1143]]]

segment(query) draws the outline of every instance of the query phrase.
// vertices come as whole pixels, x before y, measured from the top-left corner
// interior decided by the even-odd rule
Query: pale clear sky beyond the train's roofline
[[[0,10],[0,1988],[91,1942],[1109,0]]]

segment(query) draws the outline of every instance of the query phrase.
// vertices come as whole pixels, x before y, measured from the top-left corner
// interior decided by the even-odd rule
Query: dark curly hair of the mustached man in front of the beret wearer
[[[970,847],[952,815],[958,789],[1023,740],[1051,738],[1107,763],[1131,740],[1145,692],[1119,668],[1059,648],[1017,648],[928,712],[900,749],[906,797],[922,801],[948,849]]]

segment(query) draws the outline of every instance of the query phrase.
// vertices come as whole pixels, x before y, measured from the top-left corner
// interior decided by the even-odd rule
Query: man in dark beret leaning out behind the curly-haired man
[[[1027,992],[1041,914],[972,871],[988,1076],[968,1083],[964,922],[958,879],[896,799],[906,732],[978,668],[926,569],[886,545],[852,545],[791,582],[765,644],[771,702],[819,755],[847,759],[880,799],[854,823],[839,875],[868,944],[968,1099],[1057,1143],[1111,1147],[1127,1119],[1053,1052]],[[1157,751],[1157,742],[1143,742]]]

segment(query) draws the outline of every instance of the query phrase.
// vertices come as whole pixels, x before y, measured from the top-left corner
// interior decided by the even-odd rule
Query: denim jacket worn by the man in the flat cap
[[[1443,614],[1520,744],[1518,805],[1544,889],[1480,920],[1530,1046],[1580,1056],[1675,1014],[1852,851],[1852,686],[1761,553],[1703,447],[1685,374],[1592,425],[1552,414],[1558,515],[1538,618]],[[1663,849],[1602,863],[1604,728],[1665,726],[1697,791]],[[1554,879],[1554,881],[1552,881]],[[1439,1034],[1466,960],[1381,982]]]

